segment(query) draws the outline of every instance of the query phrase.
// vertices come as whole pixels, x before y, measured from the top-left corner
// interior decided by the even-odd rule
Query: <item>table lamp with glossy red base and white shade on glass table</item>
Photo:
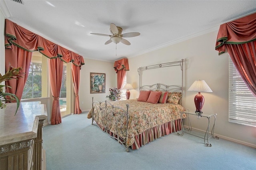
[[[196,80],[188,89],[188,91],[198,91],[198,94],[195,96],[194,101],[196,105],[196,111],[198,113],[202,112],[202,107],[204,105],[204,96],[201,94],[201,92],[212,92],[210,87],[207,85],[207,83],[204,80]]]

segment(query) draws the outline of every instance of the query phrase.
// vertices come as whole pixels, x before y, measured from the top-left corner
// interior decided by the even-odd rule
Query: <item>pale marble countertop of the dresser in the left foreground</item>
[[[16,103],[7,103],[0,109],[0,145],[36,138],[38,121],[47,119],[46,105],[36,102],[21,102],[18,112]]]

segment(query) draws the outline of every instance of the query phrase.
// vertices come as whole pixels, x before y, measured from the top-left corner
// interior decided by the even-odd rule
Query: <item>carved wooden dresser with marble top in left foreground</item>
[[[42,150],[46,105],[22,102],[16,116],[15,110],[16,103],[7,103],[5,109],[0,109],[0,170],[46,169]]]

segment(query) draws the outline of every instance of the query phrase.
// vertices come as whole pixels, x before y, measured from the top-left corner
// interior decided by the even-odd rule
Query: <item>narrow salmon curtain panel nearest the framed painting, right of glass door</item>
[[[74,83],[74,91],[75,91],[75,114],[80,114],[82,113],[80,106],[79,106],[79,83],[80,83],[80,67],[76,65],[72,65],[72,78],[73,78],[73,83]]]

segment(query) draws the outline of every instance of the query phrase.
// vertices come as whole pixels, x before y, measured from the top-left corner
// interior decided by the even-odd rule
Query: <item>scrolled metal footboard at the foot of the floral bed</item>
[[[128,146],[128,125],[129,125],[129,105],[126,104],[126,110],[115,107],[108,101],[93,101],[92,97],[92,125],[97,125],[102,131],[106,132],[111,138],[120,142],[126,152],[129,152]],[[112,125],[112,122],[115,124]],[[111,131],[116,129],[116,134]],[[112,132],[113,134],[110,134]]]

